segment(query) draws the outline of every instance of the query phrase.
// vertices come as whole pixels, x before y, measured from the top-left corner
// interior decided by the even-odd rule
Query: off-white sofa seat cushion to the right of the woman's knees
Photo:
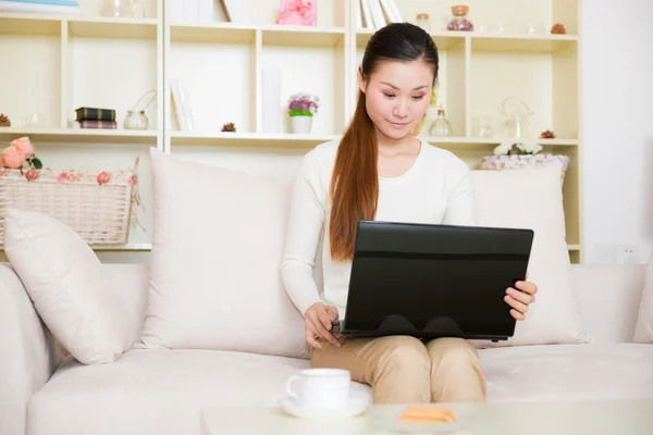
[[[653,346],[523,346],[480,350],[489,401],[653,398]]]

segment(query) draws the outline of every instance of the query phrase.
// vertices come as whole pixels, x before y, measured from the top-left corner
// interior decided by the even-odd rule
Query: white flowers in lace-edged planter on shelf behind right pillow
[[[562,177],[569,166],[569,157],[563,154],[541,153],[542,146],[534,141],[505,141],[494,148],[493,156],[481,158],[482,170],[514,170],[522,167],[541,167],[560,164]]]

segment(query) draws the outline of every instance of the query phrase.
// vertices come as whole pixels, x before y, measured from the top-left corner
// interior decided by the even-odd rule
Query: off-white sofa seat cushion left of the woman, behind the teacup
[[[133,349],[93,366],[70,360],[32,398],[29,434],[199,434],[201,408],[276,406],[286,380],[308,366],[305,359],[192,349]]]

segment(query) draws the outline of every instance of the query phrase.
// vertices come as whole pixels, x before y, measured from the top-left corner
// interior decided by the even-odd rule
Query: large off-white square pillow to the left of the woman
[[[280,264],[287,181],[152,148],[153,229],[143,348],[306,357]]]

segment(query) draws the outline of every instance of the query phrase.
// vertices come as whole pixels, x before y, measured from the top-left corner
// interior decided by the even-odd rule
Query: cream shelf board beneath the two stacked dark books
[[[110,142],[151,144],[157,142],[158,132],[90,128],[17,128],[0,127],[0,140],[8,141],[29,136],[33,141],[48,142]]]

